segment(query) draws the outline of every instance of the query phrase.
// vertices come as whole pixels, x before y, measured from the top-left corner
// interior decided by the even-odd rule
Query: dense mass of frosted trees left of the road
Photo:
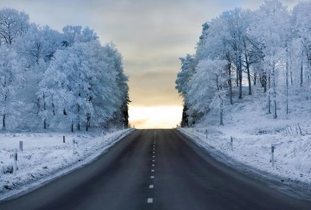
[[[25,12],[0,10],[3,129],[127,126],[128,92],[122,56],[90,28],[57,32]]]

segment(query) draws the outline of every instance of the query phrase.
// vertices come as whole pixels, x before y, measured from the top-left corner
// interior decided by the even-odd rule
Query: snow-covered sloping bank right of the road
[[[227,162],[249,166],[284,184],[300,183],[311,191],[310,99],[293,96],[288,116],[278,104],[279,119],[272,120],[272,116],[266,114],[267,103],[261,91],[254,94],[226,106],[224,126],[218,125],[218,111],[211,111],[195,128],[180,128],[180,131],[214,155],[225,157],[223,160]]]

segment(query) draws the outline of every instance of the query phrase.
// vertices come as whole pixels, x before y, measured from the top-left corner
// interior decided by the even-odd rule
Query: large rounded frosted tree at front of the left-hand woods
[[[48,102],[41,106],[44,120],[57,115],[58,121],[71,124],[72,131],[83,124],[88,131],[91,124],[98,126],[115,117],[123,103],[120,90],[127,91],[127,85],[122,68],[116,69],[112,49],[95,40],[57,50],[38,92],[41,101]]]

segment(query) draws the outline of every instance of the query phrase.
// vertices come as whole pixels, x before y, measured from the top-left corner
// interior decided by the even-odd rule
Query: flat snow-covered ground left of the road
[[[132,129],[114,133],[77,133],[73,155],[72,133],[1,133],[0,200],[32,189],[47,180],[91,162]],[[66,142],[63,143],[63,135]],[[19,141],[23,151],[19,151]],[[13,157],[18,151],[17,175],[13,175]]]

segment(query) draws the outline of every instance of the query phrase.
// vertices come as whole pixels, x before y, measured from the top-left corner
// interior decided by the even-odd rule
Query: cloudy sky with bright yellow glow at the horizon
[[[294,6],[298,0],[283,0]],[[0,8],[23,10],[30,21],[62,31],[93,28],[102,44],[113,41],[129,77],[129,120],[136,128],[180,123],[182,98],[175,90],[179,57],[195,52],[202,23],[224,10],[256,9],[261,0],[0,0]]]

